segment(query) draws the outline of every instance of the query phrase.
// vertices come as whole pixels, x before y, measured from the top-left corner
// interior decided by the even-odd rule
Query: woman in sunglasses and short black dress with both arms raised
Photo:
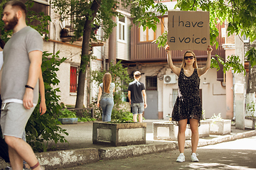
[[[208,46],[206,66],[203,68],[198,68],[196,55],[192,51],[185,52],[181,67],[176,67],[173,64],[168,45],[166,46],[166,51],[169,67],[178,76],[178,97],[172,113],[172,119],[178,124],[178,149],[181,153],[176,162],[185,162],[184,146],[187,124],[190,124],[192,132],[191,160],[192,162],[198,162],[198,158],[196,157],[199,140],[198,126],[202,118],[201,99],[199,97],[199,77],[210,69],[210,55],[213,49],[210,45]]]

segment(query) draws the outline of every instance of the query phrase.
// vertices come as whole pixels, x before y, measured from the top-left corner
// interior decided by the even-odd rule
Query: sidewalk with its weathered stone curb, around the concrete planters
[[[146,122],[146,145],[130,145],[125,147],[93,145],[92,122],[61,125],[61,128],[65,128],[69,133],[69,135],[65,137],[69,144],[51,144],[50,146],[55,146],[55,149],[58,151],[36,153],[36,156],[41,165],[46,169],[55,169],[97,162],[100,159],[120,159],[177,149],[178,145],[176,141],[153,140],[153,122],[156,121],[161,122],[164,120],[144,120],[144,122]],[[200,138],[198,147],[255,135],[256,130],[236,130],[235,127],[232,126],[230,135],[210,135],[210,137]],[[190,140],[186,140],[186,147],[191,147]],[[6,166],[6,164],[0,159],[0,169],[4,166]]]

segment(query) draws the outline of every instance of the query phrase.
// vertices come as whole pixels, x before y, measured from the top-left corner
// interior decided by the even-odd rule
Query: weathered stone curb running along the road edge
[[[213,140],[205,140],[198,142],[198,147],[206,145],[215,145],[221,142],[238,140],[245,137],[256,135],[256,130],[242,132],[236,135],[224,135],[216,137]],[[163,142],[163,143],[159,143]],[[186,148],[191,147],[191,141],[186,141]],[[124,147],[104,147],[100,149],[70,149],[64,151],[41,152],[36,153],[38,161],[45,169],[68,168],[79,164],[88,164],[99,160],[123,159],[127,157],[138,157],[143,154],[152,154],[156,152],[165,152],[178,149],[178,142],[158,141],[147,145],[129,145]],[[9,166],[0,158],[0,169]]]

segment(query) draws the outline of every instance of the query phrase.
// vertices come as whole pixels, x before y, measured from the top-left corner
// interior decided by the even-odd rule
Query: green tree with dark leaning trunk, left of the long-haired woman
[[[65,18],[74,18],[75,37],[77,40],[82,36],[82,52],[80,70],[78,75],[78,93],[75,108],[82,108],[85,91],[85,75],[88,63],[90,61],[90,41],[95,40],[95,33],[92,28],[101,26],[104,30],[104,38],[107,39],[112,32],[112,28],[116,26],[112,21],[112,16],[119,16],[114,11],[118,2],[115,0],[53,0],[51,1],[55,7],[55,11],[60,14],[60,20]]]

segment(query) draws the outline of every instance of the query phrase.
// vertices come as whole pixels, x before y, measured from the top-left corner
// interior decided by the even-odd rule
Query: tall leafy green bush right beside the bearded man
[[[55,55],[43,52],[42,72],[46,91],[47,111],[44,115],[40,115],[39,100],[26,125],[26,140],[36,152],[46,152],[49,149],[48,142],[68,142],[62,135],[68,135],[68,132],[60,128],[56,120],[61,109],[58,104],[60,96],[57,95],[60,89],[54,89],[53,86],[58,85],[60,82],[56,72],[58,72],[60,64],[65,61],[64,57],[60,59],[58,56],[59,52],[56,52]]]

